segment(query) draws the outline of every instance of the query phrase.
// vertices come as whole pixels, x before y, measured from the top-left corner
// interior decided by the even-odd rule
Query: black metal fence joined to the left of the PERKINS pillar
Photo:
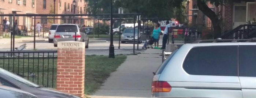
[[[0,67],[38,85],[56,87],[57,51],[0,52]]]

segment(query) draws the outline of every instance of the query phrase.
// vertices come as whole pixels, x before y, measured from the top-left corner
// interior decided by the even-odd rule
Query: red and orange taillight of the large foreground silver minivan
[[[155,92],[170,92],[171,86],[166,81],[153,81],[152,82],[152,93]]]

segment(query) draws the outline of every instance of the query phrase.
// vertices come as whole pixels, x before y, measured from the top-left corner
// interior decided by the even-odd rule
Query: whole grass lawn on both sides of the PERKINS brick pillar
[[[92,95],[98,90],[110,73],[116,71],[125,60],[126,56],[116,56],[115,59],[108,59],[108,56],[86,56],[85,94]],[[56,88],[56,64],[57,59],[0,59],[1,68],[19,73],[36,84],[52,88]],[[34,78],[30,76],[30,72],[34,72]]]

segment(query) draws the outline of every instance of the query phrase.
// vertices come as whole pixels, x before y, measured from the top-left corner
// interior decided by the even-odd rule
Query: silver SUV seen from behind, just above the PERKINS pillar
[[[88,48],[89,38],[81,25],[60,24],[55,31],[53,45],[57,47],[57,42],[60,41],[75,41],[75,37],[76,41],[85,42],[85,48]]]

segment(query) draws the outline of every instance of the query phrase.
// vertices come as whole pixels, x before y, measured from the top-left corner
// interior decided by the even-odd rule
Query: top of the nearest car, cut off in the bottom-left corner
[[[2,86],[0,83],[0,96],[1,98],[37,98],[35,95],[27,93],[25,91]]]

